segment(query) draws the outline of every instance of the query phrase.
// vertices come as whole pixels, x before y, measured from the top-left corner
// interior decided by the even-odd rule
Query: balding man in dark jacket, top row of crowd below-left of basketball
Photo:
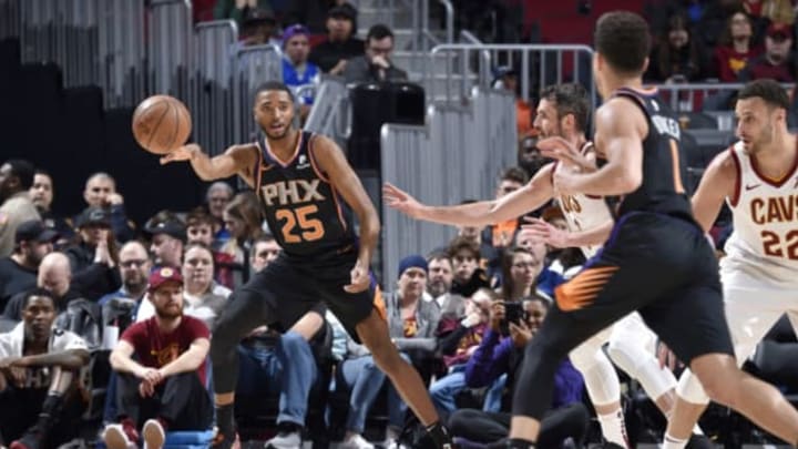
[[[116,180],[108,173],[98,172],[89,176],[83,191],[83,198],[89,207],[101,207],[108,213],[108,221],[113,231],[114,238],[127,242],[135,235],[135,225],[127,220],[124,210],[124,198],[116,192]],[[80,217],[75,218],[79,227]]]

